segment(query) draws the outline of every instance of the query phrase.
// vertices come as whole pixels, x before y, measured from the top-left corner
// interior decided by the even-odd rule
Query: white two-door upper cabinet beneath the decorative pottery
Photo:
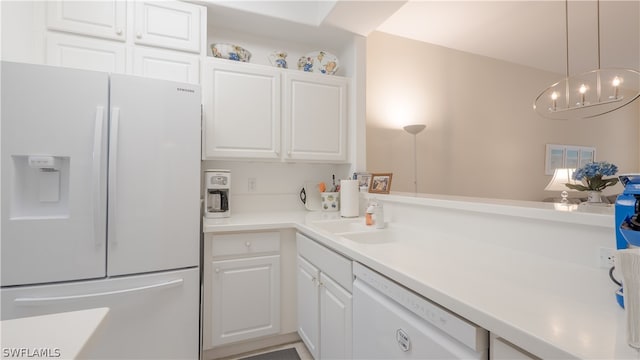
[[[220,59],[202,72],[203,159],[347,162],[346,78]]]

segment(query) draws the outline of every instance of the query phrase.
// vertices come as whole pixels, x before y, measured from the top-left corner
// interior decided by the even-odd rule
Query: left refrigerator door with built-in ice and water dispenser
[[[0,71],[2,286],[104,277],[107,75]]]

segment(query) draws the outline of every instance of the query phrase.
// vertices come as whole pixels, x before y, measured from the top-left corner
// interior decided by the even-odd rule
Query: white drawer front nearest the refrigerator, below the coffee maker
[[[280,232],[257,232],[213,235],[211,256],[252,255],[280,251]]]

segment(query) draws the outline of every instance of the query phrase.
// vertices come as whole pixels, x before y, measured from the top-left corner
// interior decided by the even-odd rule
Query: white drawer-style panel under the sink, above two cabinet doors
[[[340,286],[352,291],[353,271],[351,260],[330,250],[316,241],[302,235],[296,234],[298,254],[320,269],[329,277],[333,278]]]

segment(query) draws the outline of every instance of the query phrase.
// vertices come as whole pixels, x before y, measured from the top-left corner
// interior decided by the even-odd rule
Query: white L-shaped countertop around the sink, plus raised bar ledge
[[[416,200],[421,202],[410,201]],[[517,204],[501,207],[500,201],[486,205],[447,203],[469,211],[488,209],[489,213],[549,218],[578,226],[596,222],[613,228],[608,216],[567,216],[547,209],[549,205],[521,211]],[[295,227],[542,358],[640,359],[640,353],[626,343],[624,310],[615,302],[616,286],[606,269],[428,229],[403,226],[402,241],[362,244],[313,225],[337,218],[337,212],[234,214],[228,219],[205,219],[204,231]]]

